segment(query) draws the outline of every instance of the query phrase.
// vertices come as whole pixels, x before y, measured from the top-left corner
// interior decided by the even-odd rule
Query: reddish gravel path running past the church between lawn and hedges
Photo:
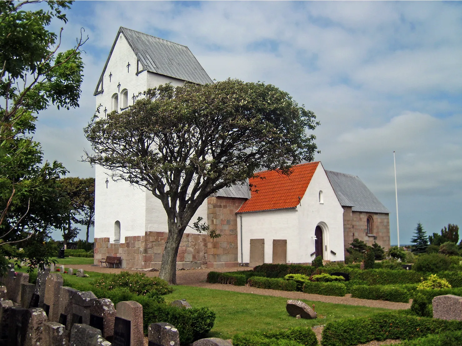
[[[129,272],[144,272],[142,270],[134,269],[114,269],[100,266],[90,265],[71,265],[70,268],[84,269],[88,272],[104,272],[104,273],[119,273],[122,270]],[[237,270],[249,270],[247,267],[239,268],[225,268],[225,269],[191,269],[191,270],[179,270],[176,272],[176,281],[180,285],[188,285],[202,288],[209,288],[213,290],[227,290],[242,293],[253,293],[262,296],[273,296],[273,297],[286,297],[288,299],[304,299],[313,302],[324,302],[324,303],[335,303],[335,304],[346,304],[346,305],[359,305],[368,306],[370,308],[384,308],[384,309],[409,309],[411,304],[409,303],[393,303],[383,300],[369,300],[349,297],[334,297],[334,296],[321,296],[318,294],[309,294],[303,292],[288,292],[280,290],[267,290],[262,288],[247,287],[247,286],[234,286],[228,284],[209,284],[205,282],[207,273],[210,271],[216,272],[230,272]],[[146,272],[147,276],[158,276],[159,272]]]

